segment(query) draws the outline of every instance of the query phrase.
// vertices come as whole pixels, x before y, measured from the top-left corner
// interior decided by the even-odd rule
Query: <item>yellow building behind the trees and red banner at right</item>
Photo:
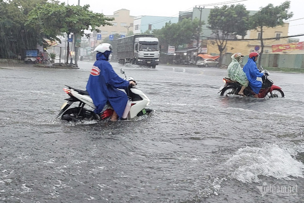
[[[284,23],[283,26],[277,26],[274,28],[265,27],[263,30],[263,38],[276,38],[272,40],[263,40],[264,42],[264,52],[272,53],[272,45],[274,44],[285,44],[288,43],[288,38],[282,38],[283,36],[288,36],[288,26],[289,23]],[[237,41],[227,41],[227,45],[223,54],[240,52],[243,55],[248,55],[252,51],[261,51],[261,41],[260,40],[248,40],[248,39],[258,39],[261,36],[259,30],[249,30],[244,40]],[[237,37],[241,39],[240,36]],[[219,54],[219,50],[215,40],[204,40],[203,44],[207,47],[207,54]]]

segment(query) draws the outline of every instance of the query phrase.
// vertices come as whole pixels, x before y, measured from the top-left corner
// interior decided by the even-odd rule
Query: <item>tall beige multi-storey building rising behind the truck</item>
[[[131,30],[133,31],[134,17],[130,16],[130,11],[127,9],[120,9],[114,12],[114,15],[106,16],[109,18],[114,17],[115,19],[111,21],[112,26],[106,25],[101,26],[98,29],[101,30],[102,40],[109,39],[111,34],[127,35]],[[98,44],[101,40],[98,40]]]

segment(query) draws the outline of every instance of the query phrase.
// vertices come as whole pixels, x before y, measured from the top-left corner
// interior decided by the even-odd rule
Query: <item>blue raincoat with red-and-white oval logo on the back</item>
[[[128,98],[126,93],[119,89],[126,89],[128,86],[129,82],[119,77],[106,57],[98,52],[86,87],[97,107],[95,114],[99,114],[109,101],[118,117],[122,117]]]

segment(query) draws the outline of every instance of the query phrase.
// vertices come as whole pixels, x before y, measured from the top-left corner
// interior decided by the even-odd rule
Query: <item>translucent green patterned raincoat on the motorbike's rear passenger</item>
[[[232,62],[228,66],[228,77],[233,80],[239,82],[242,86],[248,86],[249,81],[246,77],[245,72],[243,71],[243,68],[240,66],[240,63],[237,61],[237,59],[234,57],[235,54],[231,56]]]

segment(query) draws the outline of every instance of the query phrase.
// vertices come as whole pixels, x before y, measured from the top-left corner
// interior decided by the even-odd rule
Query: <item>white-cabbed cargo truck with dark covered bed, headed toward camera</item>
[[[140,34],[119,38],[117,58],[119,64],[132,63],[156,68],[159,64],[159,42],[154,35]]]

